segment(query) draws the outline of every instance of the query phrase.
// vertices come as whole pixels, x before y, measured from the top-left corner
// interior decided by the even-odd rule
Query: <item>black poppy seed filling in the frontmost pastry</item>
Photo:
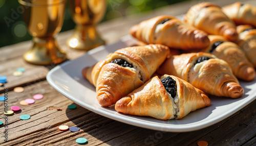
[[[172,96],[172,98],[174,98],[177,92],[176,81],[168,76],[166,78],[161,79],[161,82],[165,90]]]

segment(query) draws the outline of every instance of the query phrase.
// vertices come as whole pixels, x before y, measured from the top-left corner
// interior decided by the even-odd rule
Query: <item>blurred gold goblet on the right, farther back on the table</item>
[[[105,44],[97,33],[96,25],[105,14],[105,0],[70,0],[70,11],[76,23],[68,46],[78,50],[91,50]]]

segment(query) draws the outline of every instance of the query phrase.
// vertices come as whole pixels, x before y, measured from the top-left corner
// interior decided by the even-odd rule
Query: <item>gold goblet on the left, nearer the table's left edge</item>
[[[24,7],[24,21],[32,35],[33,46],[24,55],[31,64],[48,65],[63,62],[66,54],[55,38],[62,27],[66,0],[18,0]]]

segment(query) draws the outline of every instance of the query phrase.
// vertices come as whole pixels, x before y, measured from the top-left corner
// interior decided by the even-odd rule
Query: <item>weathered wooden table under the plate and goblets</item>
[[[220,6],[237,2],[235,0],[212,0]],[[256,1],[245,1],[256,6]],[[129,29],[141,20],[157,15],[184,14],[188,8],[198,2],[184,2],[125,18],[114,19],[100,23],[99,33],[108,44],[119,41],[120,37],[129,34]],[[71,50],[66,46],[66,40],[72,31],[60,33],[58,42],[68,53],[70,60],[84,55],[86,52]],[[54,65],[39,66],[26,63],[23,53],[31,46],[26,41],[0,48],[0,75],[8,77],[8,83],[0,87],[0,96],[8,89],[9,110],[11,106],[21,107],[21,111],[8,116],[8,141],[4,141],[5,127],[0,127],[0,145],[78,145],[76,139],[88,139],[88,145],[197,145],[205,140],[209,145],[253,145],[256,143],[256,101],[242,110],[210,127],[185,133],[161,132],[123,124],[106,118],[77,105],[75,110],[68,109],[74,104],[56,91],[46,81],[46,75]],[[21,77],[14,77],[12,72],[17,67],[25,67]],[[14,87],[25,88],[23,93],[15,93]],[[22,106],[21,100],[32,98],[34,94],[44,94],[44,99],[32,105]],[[4,102],[0,102],[0,112],[4,111]],[[57,108],[62,109],[58,111]],[[20,120],[19,116],[28,114],[29,120]],[[4,121],[4,114],[0,121]],[[60,131],[60,125],[75,126],[80,131]]]

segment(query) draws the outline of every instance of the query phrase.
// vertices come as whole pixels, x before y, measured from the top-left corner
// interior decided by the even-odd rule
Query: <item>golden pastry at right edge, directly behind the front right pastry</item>
[[[236,43],[227,41],[223,36],[209,35],[208,37],[210,45],[202,50],[202,52],[211,53],[219,59],[226,61],[237,78],[245,81],[252,81],[254,79],[254,67]]]

